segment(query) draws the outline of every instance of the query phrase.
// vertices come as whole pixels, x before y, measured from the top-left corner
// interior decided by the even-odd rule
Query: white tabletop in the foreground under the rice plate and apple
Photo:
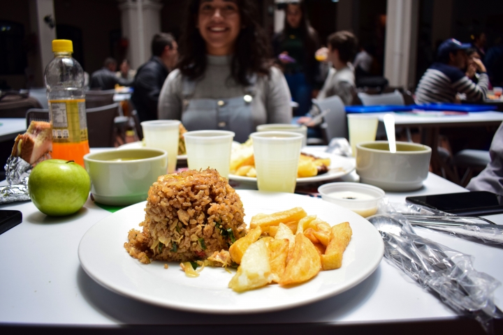
[[[1,184],[5,184],[3,181]],[[386,193],[393,202],[409,195],[466,191],[429,174],[423,188]],[[323,201],[323,200],[319,200]],[[246,207],[246,204],[245,204]],[[298,308],[256,315],[196,314],[144,304],[117,295],[94,282],[80,267],[77,250],[85,232],[110,215],[88,199],[76,215],[50,218],[31,202],[4,204],[22,211],[23,222],[0,235],[0,325],[364,325],[383,322],[454,320],[454,313],[434,295],[382,260],[369,278],[347,292]],[[487,216],[503,224],[503,215]],[[474,255],[474,267],[503,281],[503,248],[416,228],[416,232],[455,250]],[[503,308],[503,288],[495,292]],[[177,328],[180,329],[180,328]],[[182,328],[183,329],[183,328]]]

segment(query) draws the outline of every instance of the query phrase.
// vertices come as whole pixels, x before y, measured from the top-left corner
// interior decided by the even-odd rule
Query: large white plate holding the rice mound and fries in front
[[[268,285],[237,293],[228,288],[233,274],[205,267],[198,278],[185,276],[177,263],[143,265],[124,249],[131,228],[145,216],[146,202],[133,204],[104,218],[82,237],[78,255],[82,268],[105,288],[157,306],[202,313],[236,314],[278,311],[337,295],[370,276],[384,253],[381,235],[367,220],[331,204],[305,195],[238,190],[245,206],[245,221],[258,213],[303,207],[331,225],[349,221],[353,237],[344,252],[342,267],[320,271],[311,281],[293,288]]]

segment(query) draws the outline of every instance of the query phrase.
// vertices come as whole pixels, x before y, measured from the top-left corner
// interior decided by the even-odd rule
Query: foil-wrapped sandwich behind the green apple
[[[17,135],[12,154],[5,165],[8,186],[0,186],[0,204],[30,200],[28,177],[31,169],[51,158],[50,124],[31,121],[26,133]]]

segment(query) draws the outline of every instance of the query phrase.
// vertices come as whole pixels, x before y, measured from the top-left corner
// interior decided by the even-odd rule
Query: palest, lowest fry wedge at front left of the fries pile
[[[228,283],[236,292],[261,288],[272,281],[267,241],[259,239],[247,248],[238,271]]]

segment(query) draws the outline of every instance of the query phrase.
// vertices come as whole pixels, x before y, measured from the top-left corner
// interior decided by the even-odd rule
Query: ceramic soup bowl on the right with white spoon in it
[[[392,154],[387,141],[356,144],[356,173],[360,183],[385,191],[414,191],[423,186],[430,168],[431,148],[423,144],[396,142]]]

